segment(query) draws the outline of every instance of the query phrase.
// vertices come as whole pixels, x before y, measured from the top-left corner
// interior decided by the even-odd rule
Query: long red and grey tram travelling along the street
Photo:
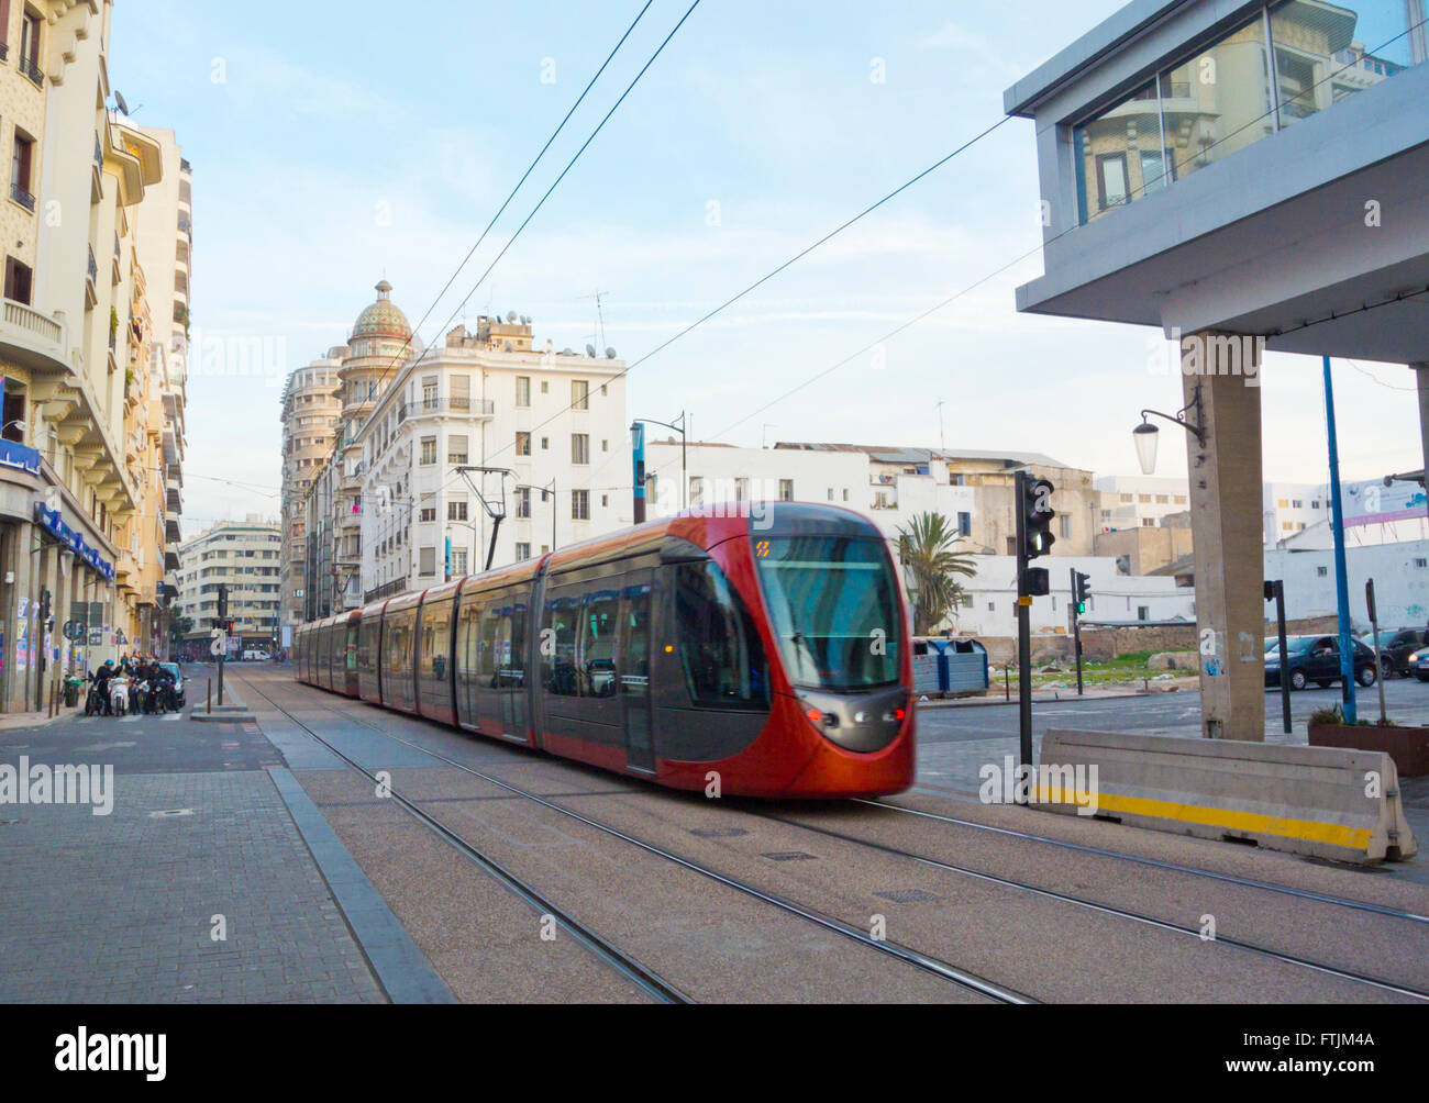
[[[304,624],[297,680],[676,789],[712,772],[743,796],[907,789],[909,630],[882,534],[835,507],[742,509]]]

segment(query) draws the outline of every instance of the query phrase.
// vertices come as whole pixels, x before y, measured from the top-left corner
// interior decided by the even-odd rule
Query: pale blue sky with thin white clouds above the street
[[[1120,7],[703,0],[477,286],[690,6],[653,0],[439,300],[643,3],[117,0],[111,86],[193,164],[209,353],[189,383],[186,536],[277,517],[283,379],[347,340],[379,280],[427,341],[514,310],[537,346],[633,361],[996,123],[1006,87]],[[629,414],[689,410],[693,437],[746,447],[946,443],[1139,474],[1139,410],[1182,404],[1167,346],[1017,314],[1042,271],[1037,200],[1015,119],[634,369]],[[1272,353],[1262,377],[1266,479],[1326,481],[1319,361]],[[1409,370],[1336,361],[1335,384],[1346,479],[1422,466]],[[1157,474],[1185,474],[1169,437]]]

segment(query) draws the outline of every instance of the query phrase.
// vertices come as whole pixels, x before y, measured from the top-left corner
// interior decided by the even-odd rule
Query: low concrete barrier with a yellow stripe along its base
[[[1159,832],[1355,863],[1418,852],[1399,774],[1382,752],[1049,732],[1042,764],[1083,766],[1087,779],[1096,767],[1092,794],[1039,783],[1037,803],[1052,812],[1077,812],[1080,802],[1085,816],[1090,796],[1099,817]]]

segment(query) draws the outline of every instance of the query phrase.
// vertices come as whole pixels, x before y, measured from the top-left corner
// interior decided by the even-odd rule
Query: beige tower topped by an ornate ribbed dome
[[[377,301],[357,316],[352,337],[337,371],[334,394],[342,399],[339,421],[342,446],[337,451],[339,487],[337,517],[333,526],[337,547],[334,562],[339,573],[337,606],[356,609],[362,604],[362,473],[357,469],[362,449],[357,434],[373,406],[393,384],[402,366],[420,349],[412,334],[412,324],[392,301],[392,284],[377,284]],[[346,599],[346,600],[344,600]]]

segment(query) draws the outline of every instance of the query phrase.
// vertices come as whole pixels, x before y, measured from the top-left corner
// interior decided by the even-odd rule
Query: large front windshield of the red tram
[[[755,563],[793,684],[865,690],[897,682],[899,590],[879,540],[756,534]]]

